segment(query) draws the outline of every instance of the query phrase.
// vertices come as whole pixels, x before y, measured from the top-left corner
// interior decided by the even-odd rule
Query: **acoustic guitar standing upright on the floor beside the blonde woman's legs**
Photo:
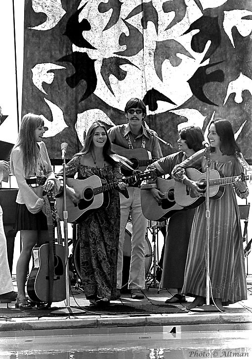
[[[33,248],[27,293],[35,302],[61,302],[66,299],[65,250],[62,243],[55,243],[51,206],[44,193],[43,199],[51,243]]]

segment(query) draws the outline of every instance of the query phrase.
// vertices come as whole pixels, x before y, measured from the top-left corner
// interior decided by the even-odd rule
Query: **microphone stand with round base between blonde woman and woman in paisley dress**
[[[86,311],[81,308],[70,307],[70,286],[69,286],[69,266],[68,266],[68,229],[67,229],[67,202],[66,202],[66,160],[65,154],[62,153],[62,165],[63,165],[63,220],[64,220],[64,246],[65,246],[65,274],[66,274],[66,308],[57,309],[51,312],[51,314],[84,314]]]

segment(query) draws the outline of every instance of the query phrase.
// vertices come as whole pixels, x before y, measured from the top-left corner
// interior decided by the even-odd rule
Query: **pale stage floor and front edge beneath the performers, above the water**
[[[15,290],[16,283],[13,281]],[[225,312],[194,312],[184,311],[181,304],[165,305],[167,298],[171,297],[168,290],[150,287],[143,290],[143,300],[133,300],[129,294],[122,294],[117,301],[111,302],[110,308],[98,310],[89,306],[83,291],[71,285],[69,307],[65,301],[52,304],[51,312],[62,308],[62,313],[48,314],[48,310],[38,314],[22,314],[15,309],[14,303],[0,304],[0,337],[24,335],[24,331],[43,331],[54,329],[86,328],[90,333],[99,333],[104,328],[111,327],[149,327],[149,326],[194,326],[214,325],[215,329],[221,325],[225,330],[233,330],[234,325],[243,329],[252,329],[252,276],[247,277],[248,299],[225,307]],[[193,298],[187,297],[187,301]],[[166,310],[167,306],[167,310]],[[79,310],[84,308],[81,313]],[[115,310],[114,310],[114,309]],[[130,309],[131,308],[131,309]],[[97,310],[96,310],[97,309]],[[141,312],[142,310],[142,312]],[[76,311],[76,312],[75,312]],[[6,314],[3,314],[6,312]],[[9,315],[8,315],[9,313]],[[218,329],[217,329],[218,330]],[[37,332],[37,333],[39,333]],[[34,332],[35,333],[35,332]],[[35,334],[33,334],[35,335]]]

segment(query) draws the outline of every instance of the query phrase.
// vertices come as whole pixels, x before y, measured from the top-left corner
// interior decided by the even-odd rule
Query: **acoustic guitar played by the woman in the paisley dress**
[[[153,173],[154,171],[139,172],[129,177],[123,177],[121,181],[131,185],[138,180],[143,181],[152,178]],[[68,222],[79,223],[83,221],[91,211],[101,206],[107,208],[109,205],[109,191],[116,188],[121,181],[107,183],[106,180],[101,180],[100,177],[95,175],[84,180],[67,178],[67,185],[79,193],[80,198],[78,203],[73,203],[72,200],[66,196]],[[59,217],[63,220],[63,196],[56,198],[56,206]]]

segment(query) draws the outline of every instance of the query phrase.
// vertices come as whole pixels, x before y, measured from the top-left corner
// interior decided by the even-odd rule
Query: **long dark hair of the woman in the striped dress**
[[[235,141],[234,131],[231,122],[228,120],[213,120],[210,125],[215,125],[216,133],[220,137],[220,151],[222,154],[233,155],[237,151],[241,152],[240,147]],[[209,126],[210,127],[210,126]],[[214,152],[215,148],[210,147],[210,151]]]

